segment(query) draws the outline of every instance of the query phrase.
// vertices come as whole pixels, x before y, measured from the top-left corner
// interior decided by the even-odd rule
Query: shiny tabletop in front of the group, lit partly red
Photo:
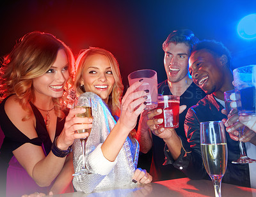
[[[231,184],[221,184],[221,195],[225,196],[255,196],[256,189],[249,187],[240,187],[234,186]],[[111,188],[104,191],[84,194],[80,192],[76,193],[67,193],[67,194],[58,194],[54,197],[100,197],[100,196],[213,196],[214,197],[214,187],[211,180],[191,180],[188,178],[182,179],[172,179],[172,180],[163,180],[159,182],[152,182],[150,184],[138,184],[136,187],[124,187],[124,188]]]

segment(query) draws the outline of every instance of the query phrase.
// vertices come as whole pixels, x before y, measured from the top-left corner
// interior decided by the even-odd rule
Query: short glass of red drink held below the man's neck
[[[180,97],[173,95],[159,95],[157,101],[157,108],[163,110],[163,113],[155,116],[156,119],[163,119],[163,122],[158,124],[158,127],[179,128]]]

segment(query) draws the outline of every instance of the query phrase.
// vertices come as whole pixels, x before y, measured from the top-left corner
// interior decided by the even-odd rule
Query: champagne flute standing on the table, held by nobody
[[[221,180],[227,168],[227,140],[221,121],[200,122],[201,152],[215,196],[221,196]]]

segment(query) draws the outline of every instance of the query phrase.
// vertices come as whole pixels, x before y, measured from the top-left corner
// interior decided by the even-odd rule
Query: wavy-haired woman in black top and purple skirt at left
[[[4,57],[0,191],[6,189],[6,196],[58,194],[70,184],[70,145],[87,136],[74,131],[92,126],[92,119],[75,117],[83,110],[70,110],[67,115],[63,106],[63,94],[72,85],[73,63],[65,43],[40,32],[26,34]]]

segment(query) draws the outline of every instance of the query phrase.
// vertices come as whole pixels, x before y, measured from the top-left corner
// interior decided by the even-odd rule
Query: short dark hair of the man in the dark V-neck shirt
[[[175,30],[172,33],[169,34],[169,36],[166,38],[166,40],[163,43],[163,50],[170,44],[170,43],[185,43],[190,47],[190,51],[193,48],[193,46],[198,43],[198,38],[195,36],[193,31],[189,29],[180,29]]]

